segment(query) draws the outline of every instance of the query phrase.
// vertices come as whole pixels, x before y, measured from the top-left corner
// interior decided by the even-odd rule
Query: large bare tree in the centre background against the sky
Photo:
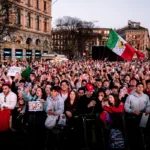
[[[73,57],[81,55],[85,50],[86,42],[93,38],[94,24],[82,21],[76,17],[64,16],[56,20],[56,31],[63,36],[64,54]]]

